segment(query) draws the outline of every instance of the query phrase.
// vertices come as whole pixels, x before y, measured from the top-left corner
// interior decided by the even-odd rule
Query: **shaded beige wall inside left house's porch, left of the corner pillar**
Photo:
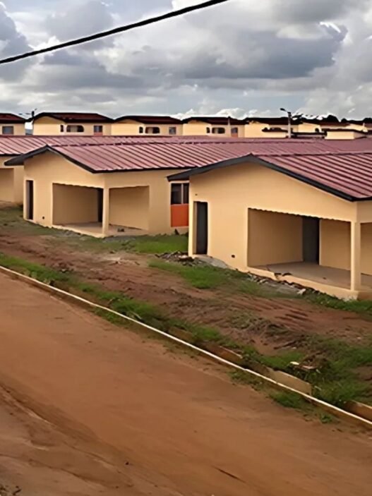
[[[53,224],[98,221],[96,188],[53,184]]]

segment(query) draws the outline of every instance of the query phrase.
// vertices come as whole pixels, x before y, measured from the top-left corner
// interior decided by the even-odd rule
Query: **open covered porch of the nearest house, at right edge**
[[[249,209],[248,271],[337,298],[372,298],[372,222]]]

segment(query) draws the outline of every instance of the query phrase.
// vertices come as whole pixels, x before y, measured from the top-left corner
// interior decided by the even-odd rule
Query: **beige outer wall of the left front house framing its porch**
[[[153,170],[92,174],[52,153],[38,155],[25,162],[25,180],[34,181],[35,222],[53,225],[53,183],[106,189],[143,187],[148,188],[148,231],[151,234],[167,234],[174,230],[171,227],[170,184],[167,181],[171,173]],[[114,197],[115,194],[118,193],[114,193]],[[133,205],[132,200],[129,203]]]

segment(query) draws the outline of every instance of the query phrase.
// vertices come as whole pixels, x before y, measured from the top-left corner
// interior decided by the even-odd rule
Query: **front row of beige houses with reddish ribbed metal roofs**
[[[192,257],[372,298],[372,140],[0,136],[0,199],[80,234],[189,234]]]

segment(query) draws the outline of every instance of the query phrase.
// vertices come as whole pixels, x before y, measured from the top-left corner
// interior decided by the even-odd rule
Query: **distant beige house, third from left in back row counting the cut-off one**
[[[112,123],[112,135],[182,135],[182,122],[170,116],[121,116]]]

